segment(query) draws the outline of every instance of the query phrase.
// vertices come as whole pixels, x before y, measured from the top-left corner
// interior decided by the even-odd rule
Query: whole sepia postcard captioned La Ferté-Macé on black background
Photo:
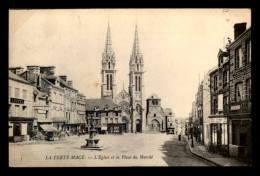
[[[9,166],[251,166],[251,9],[10,9]]]

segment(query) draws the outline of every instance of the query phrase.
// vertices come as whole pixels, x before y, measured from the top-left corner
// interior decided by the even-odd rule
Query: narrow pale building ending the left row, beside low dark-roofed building
[[[86,131],[86,96],[77,93],[77,123],[78,123],[78,129],[77,131],[79,133],[84,133]]]

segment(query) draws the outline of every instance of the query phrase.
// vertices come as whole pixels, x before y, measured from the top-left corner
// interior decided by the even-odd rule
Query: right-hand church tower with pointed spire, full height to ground
[[[144,132],[146,130],[146,104],[144,94],[144,61],[139,48],[137,25],[132,54],[129,62],[129,95],[131,132]]]

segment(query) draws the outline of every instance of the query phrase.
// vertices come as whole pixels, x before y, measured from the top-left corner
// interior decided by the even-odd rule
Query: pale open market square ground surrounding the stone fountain
[[[12,167],[207,166],[185,152],[184,141],[167,134],[98,135],[102,151],[83,150],[88,136],[61,141],[9,143]]]

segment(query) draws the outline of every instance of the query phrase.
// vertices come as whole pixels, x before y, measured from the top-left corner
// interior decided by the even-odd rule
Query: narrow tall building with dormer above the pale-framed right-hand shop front
[[[210,137],[211,150],[228,155],[228,126],[224,115],[224,106],[229,99],[229,57],[226,48],[219,49],[218,66],[210,75],[211,115]]]

